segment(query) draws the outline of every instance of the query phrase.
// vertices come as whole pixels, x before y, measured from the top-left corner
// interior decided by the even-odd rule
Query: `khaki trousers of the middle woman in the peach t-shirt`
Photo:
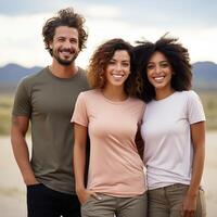
[[[133,197],[99,194],[81,205],[82,217],[146,217],[146,193]]]

